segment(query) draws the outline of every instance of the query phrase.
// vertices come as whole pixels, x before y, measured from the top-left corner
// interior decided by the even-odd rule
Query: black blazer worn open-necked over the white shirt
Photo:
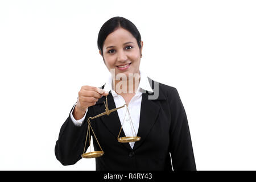
[[[154,81],[148,79],[154,90]],[[143,90],[137,134],[141,140],[135,142],[133,149],[129,143],[119,143],[117,140],[121,129],[117,111],[90,121],[98,142],[105,152],[103,156],[96,158],[96,170],[172,171],[172,167],[174,171],[196,170],[187,115],[179,93],[172,86],[156,83],[159,84],[159,97],[156,100],[148,100],[150,93]],[[104,86],[101,88],[103,89]],[[105,111],[103,101],[105,97],[101,97],[96,105],[88,107],[82,126],[75,126],[70,114],[61,126],[55,155],[64,166],[75,164],[81,159],[88,127],[87,119]],[[109,109],[116,107],[110,92],[108,106]],[[94,135],[92,132],[90,134],[93,137],[94,150],[100,150]],[[123,130],[120,137],[125,137]],[[88,146],[87,140],[86,149]]]

